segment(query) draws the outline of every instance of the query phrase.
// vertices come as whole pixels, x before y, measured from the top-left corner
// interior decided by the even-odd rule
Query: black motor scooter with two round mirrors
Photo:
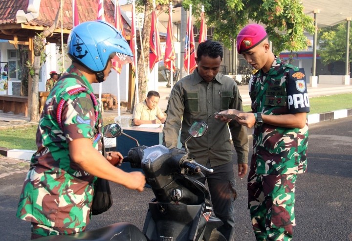
[[[168,149],[163,145],[141,146],[138,140],[123,132],[118,124],[104,127],[104,136],[121,134],[136,142],[124,157],[132,168],[142,168],[155,198],[149,202],[142,232],[130,223],[115,223],[100,229],[66,236],[51,236],[38,241],[226,241],[217,231],[222,221],[215,217],[207,187],[192,178],[213,172],[191,157],[187,142],[201,137],[207,124],[195,121],[188,130],[185,150]]]

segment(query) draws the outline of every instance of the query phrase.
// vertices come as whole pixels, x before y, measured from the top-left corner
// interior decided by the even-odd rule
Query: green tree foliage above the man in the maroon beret
[[[207,25],[214,26],[214,39],[231,47],[239,31],[248,22],[266,25],[276,54],[283,50],[307,49],[310,41],[304,32],[314,32],[314,20],[303,12],[300,0],[184,0],[182,6],[200,16],[204,5]]]

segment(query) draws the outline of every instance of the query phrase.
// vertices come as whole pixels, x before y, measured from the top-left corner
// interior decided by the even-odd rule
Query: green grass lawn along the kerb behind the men
[[[309,114],[325,113],[333,110],[351,109],[352,94],[338,94],[309,99]],[[244,106],[250,111],[250,106]],[[104,124],[114,123],[113,117],[104,118]],[[36,150],[35,135],[37,127],[0,130],[0,147],[9,149]]]

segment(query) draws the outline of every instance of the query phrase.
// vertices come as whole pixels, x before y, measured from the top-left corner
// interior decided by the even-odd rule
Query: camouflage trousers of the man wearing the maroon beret
[[[296,177],[249,172],[248,209],[257,241],[292,240]]]

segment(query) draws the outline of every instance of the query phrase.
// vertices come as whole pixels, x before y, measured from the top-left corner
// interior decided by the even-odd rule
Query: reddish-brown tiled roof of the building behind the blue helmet
[[[76,1],[80,22],[97,19],[99,0]],[[35,6],[34,2],[39,2],[39,6]],[[62,28],[65,37],[67,37],[73,26],[72,0],[63,2]],[[14,40],[14,36],[17,36],[18,41],[28,41],[28,37],[34,36],[35,32],[41,32],[53,24],[59,5],[60,0],[0,0],[0,39]],[[113,24],[113,0],[104,1],[104,13],[105,20]],[[60,16],[58,27],[54,34],[48,37],[49,41],[52,38],[61,38]],[[130,36],[131,27],[124,18],[123,21],[126,35]],[[129,39],[129,37],[127,38]]]

